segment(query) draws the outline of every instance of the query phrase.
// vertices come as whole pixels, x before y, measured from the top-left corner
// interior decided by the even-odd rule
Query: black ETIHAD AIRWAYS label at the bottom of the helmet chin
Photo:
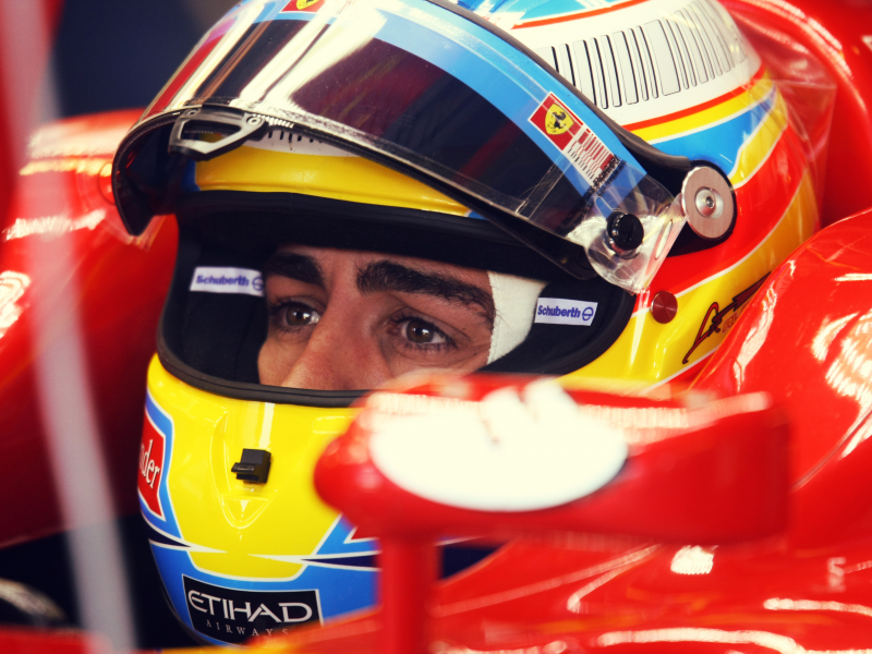
[[[292,627],[320,623],[317,591],[238,591],[182,576],[194,629],[226,643],[255,635],[287,634]]]

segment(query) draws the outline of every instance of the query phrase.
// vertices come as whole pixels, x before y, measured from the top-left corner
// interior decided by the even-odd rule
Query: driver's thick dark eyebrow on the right
[[[496,316],[491,293],[444,272],[422,272],[382,259],[358,268],[358,290],[363,294],[386,291],[433,295],[446,302],[477,305],[493,325]]]

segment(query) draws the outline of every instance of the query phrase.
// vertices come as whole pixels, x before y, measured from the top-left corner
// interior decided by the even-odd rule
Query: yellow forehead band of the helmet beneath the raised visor
[[[277,132],[201,161],[196,185],[202,191],[300,193],[452,216],[469,214],[463,205],[389,168],[308,137],[296,138]]]

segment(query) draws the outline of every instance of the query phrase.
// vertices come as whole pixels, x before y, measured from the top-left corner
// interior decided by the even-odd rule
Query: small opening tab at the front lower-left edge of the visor
[[[203,107],[184,111],[170,134],[169,152],[207,161],[257,136],[269,122],[256,113]]]

